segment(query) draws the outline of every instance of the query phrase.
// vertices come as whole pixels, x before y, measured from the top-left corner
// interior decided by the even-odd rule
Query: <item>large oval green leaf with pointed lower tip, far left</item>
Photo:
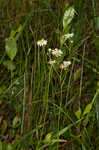
[[[16,56],[16,53],[17,53],[16,40],[14,38],[6,39],[5,49],[6,49],[6,53],[9,56],[9,58],[11,60],[13,60],[15,58],[15,56]]]

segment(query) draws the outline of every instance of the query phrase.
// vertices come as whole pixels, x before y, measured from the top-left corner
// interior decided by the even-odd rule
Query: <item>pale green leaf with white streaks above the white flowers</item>
[[[65,13],[64,13],[64,17],[63,17],[63,28],[66,29],[68,24],[70,24],[70,22],[72,21],[73,17],[74,17],[74,13],[75,10],[73,7],[69,7]]]

